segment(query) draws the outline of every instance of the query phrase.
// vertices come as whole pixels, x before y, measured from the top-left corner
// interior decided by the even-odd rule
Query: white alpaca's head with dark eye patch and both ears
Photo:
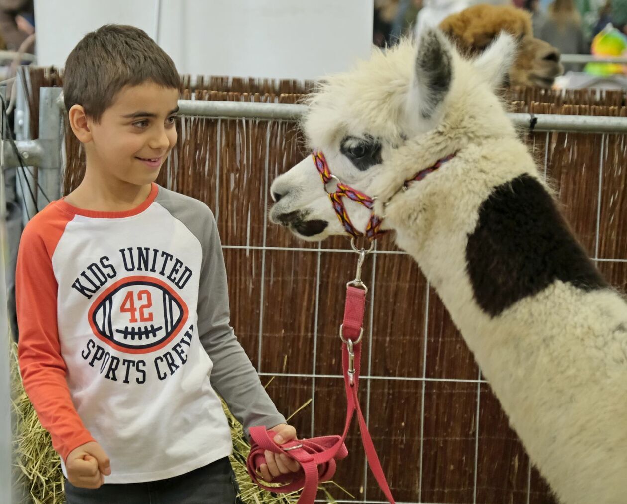
[[[391,158],[444,125],[470,143],[513,131],[493,91],[514,52],[513,39],[502,34],[478,58],[465,60],[435,29],[417,44],[377,50],[354,70],[324,80],[309,98],[302,125],[308,146],[324,152],[342,182],[377,196],[377,179],[394,170]],[[416,159],[417,171],[423,162]],[[312,157],[277,177],[270,190],[271,220],[299,238],[345,234]],[[345,206],[364,231],[370,211],[347,199]]]

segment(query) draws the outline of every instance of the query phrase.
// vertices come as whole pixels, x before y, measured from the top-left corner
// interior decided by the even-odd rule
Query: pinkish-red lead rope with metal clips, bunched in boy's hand
[[[361,249],[359,262],[357,263],[357,276],[355,280],[347,283],[344,322],[340,327],[340,339],[343,342],[342,368],[344,369],[344,388],[347,402],[344,433],[342,433],[342,436],[298,439],[298,441],[290,441],[289,443],[278,445],[273,441],[274,433],[272,431],[266,431],[264,427],[250,428],[250,436],[253,440],[253,446],[248,456],[248,473],[250,477],[261,488],[272,492],[285,493],[302,488],[298,504],[313,504],[318,491],[318,483],[320,481],[329,481],[335,474],[335,461],[347,456],[348,450],[344,441],[355,412],[357,412],[359,432],[361,433],[368,465],[387,500],[394,504],[394,498],[389,485],[387,485],[386,476],[374,449],[374,444],[366,425],[366,419],[364,419],[357,397],[361,339],[364,333],[364,307],[366,305],[367,293],[367,287],[361,281],[361,266],[367,252],[365,249]],[[278,488],[276,486],[263,485],[259,480],[257,471],[261,464],[265,464],[266,459],[263,454],[265,450],[283,453],[297,460],[302,466],[302,472],[275,478],[273,480],[274,483],[285,483],[285,485]]]

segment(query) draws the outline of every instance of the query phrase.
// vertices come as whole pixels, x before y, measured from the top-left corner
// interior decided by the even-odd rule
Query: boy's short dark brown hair
[[[122,88],[146,81],[181,88],[174,61],[145,31],[106,24],[85,35],[65,62],[65,108],[81,105],[98,122]]]

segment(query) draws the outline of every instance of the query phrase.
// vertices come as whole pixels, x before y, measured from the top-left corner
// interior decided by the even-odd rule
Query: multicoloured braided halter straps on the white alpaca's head
[[[350,234],[350,236],[352,236],[353,238],[365,236],[371,241],[379,238],[379,236],[381,236],[382,234],[385,234],[387,231],[381,230],[381,224],[383,222],[383,219],[377,217],[372,210],[374,207],[374,200],[376,199],[376,196],[368,196],[364,192],[357,191],[357,189],[347,186],[346,184],[344,184],[344,182],[340,181],[337,176],[331,173],[329,169],[329,164],[327,164],[327,159],[324,157],[322,150],[312,152],[312,157],[314,158],[315,167],[319,171],[320,177],[322,177],[324,189],[325,191],[327,191],[327,194],[329,194],[329,198],[333,205],[333,209],[337,214],[337,218],[340,220],[340,224],[342,224],[346,232]],[[419,171],[415,176],[411,177],[411,179],[407,179],[403,183],[401,189],[405,191],[408,188],[410,182],[421,181],[431,172],[435,172],[438,168],[441,167],[441,165],[445,164],[446,161],[453,159],[453,157],[455,157],[455,154],[443,157],[442,159],[439,159],[433,166],[429,166],[428,168]],[[333,192],[330,192],[327,188],[329,182],[331,181],[335,181],[337,184],[337,187]],[[399,189],[399,191],[401,189]],[[349,215],[346,211],[346,207],[344,206],[344,202],[342,202],[343,197],[347,197],[348,199],[351,199],[352,201],[355,201],[365,206],[371,211],[370,219],[368,220],[368,224],[366,225],[366,231],[364,233],[361,233],[361,231],[357,231],[357,229],[355,229],[355,226],[353,226],[352,222],[350,221]]]

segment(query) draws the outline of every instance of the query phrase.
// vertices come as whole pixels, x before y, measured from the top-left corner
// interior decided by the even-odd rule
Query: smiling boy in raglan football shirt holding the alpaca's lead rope
[[[68,503],[234,502],[216,392],[246,429],[296,433],[229,327],[213,214],[154,184],[177,139],[174,63],[140,29],[103,26],[63,92],[85,177],[26,226],[17,288],[24,387]],[[266,458],[268,481],[299,468]]]

